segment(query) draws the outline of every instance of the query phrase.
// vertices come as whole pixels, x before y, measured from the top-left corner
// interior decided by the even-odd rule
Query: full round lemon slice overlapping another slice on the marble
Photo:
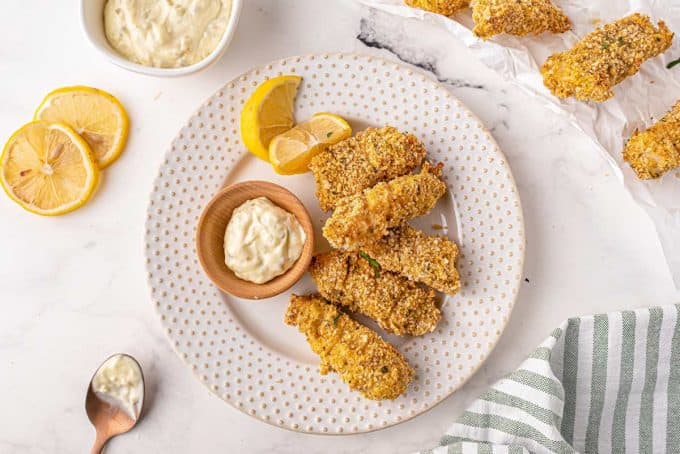
[[[64,124],[28,123],[10,137],[0,156],[5,192],[26,210],[43,216],[80,207],[98,181],[90,147]]]

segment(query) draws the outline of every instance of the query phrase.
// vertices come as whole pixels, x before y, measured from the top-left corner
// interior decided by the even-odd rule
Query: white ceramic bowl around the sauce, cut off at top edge
[[[106,0],[81,0],[80,21],[82,23],[85,36],[87,36],[87,39],[90,41],[90,43],[92,43],[92,45],[104,56],[106,56],[106,58],[108,58],[113,64],[130,71],[147,74],[150,76],[185,76],[212,65],[217,60],[219,60],[222,54],[224,54],[224,51],[227,50],[229,42],[231,41],[234,31],[236,30],[236,24],[238,23],[239,15],[241,14],[241,1],[242,0],[232,0],[231,13],[229,15],[227,28],[225,29],[224,35],[222,36],[222,39],[215,50],[213,50],[210,55],[198,63],[194,63],[190,66],[183,66],[181,68],[155,68],[153,66],[144,66],[133,63],[116,52],[116,50],[111,47],[109,42],[106,40],[106,34],[104,32],[104,4],[106,3]]]

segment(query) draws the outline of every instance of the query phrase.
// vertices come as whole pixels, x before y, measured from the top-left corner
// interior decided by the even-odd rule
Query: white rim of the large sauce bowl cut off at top
[[[107,1],[108,0],[102,1],[101,12],[102,29],[104,28],[103,8],[104,5],[106,5]],[[89,3],[91,3],[91,0],[80,0],[80,25],[83,30],[83,33],[85,34],[85,37],[87,38],[87,41],[90,43],[90,46],[95,48],[100,54],[104,55],[114,65],[126,69],[128,71],[136,72],[139,74],[145,74],[148,76],[178,77],[193,74],[203,69],[206,69],[209,66],[213,65],[214,63],[216,63],[222,57],[222,55],[226,52],[227,48],[229,47],[229,43],[231,42],[234,33],[236,32],[238,21],[241,16],[241,7],[243,2],[242,0],[231,0],[231,11],[229,12],[229,20],[227,22],[227,27],[224,29],[222,38],[220,38],[220,42],[215,47],[215,49],[213,49],[213,51],[209,55],[207,55],[203,60],[196,62],[192,65],[181,66],[179,68],[158,68],[155,66],[140,65],[139,63],[134,63],[126,59],[118,52],[116,52],[114,49],[109,49],[106,46],[102,46],[101,44],[97,43],[93,38],[90,22],[85,17],[86,16],[85,11],[87,8],[86,4]]]

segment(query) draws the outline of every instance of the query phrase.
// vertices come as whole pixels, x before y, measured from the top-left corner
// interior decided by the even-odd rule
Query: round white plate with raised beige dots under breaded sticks
[[[274,181],[296,193],[316,223],[322,214],[311,175],[284,177],[241,144],[239,114],[267,78],[303,76],[296,116],[329,111],[355,130],[390,124],[418,136],[445,164],[450,192],[416,223],[428,233],[448,225],[461,249],[463,288],[442,302],[437,329],[418,338],[386,336],[417,370],[394,400],[363,398],[335,374],[319,375],[304,336],[283,323],[290,292],[261,301],[217,290],[196,258],[198,217],[223,185]],[[489,132],[448,90],[420,72],[374,57],[291,57],[227,83],[172,142],[148,208],[146,257],[151,296],[175,350],[214,394],[270,424],[301,432],[367,432],[412,418],[454,392],[501,335],[519,289],[524,224],[510,168]],[[307,277],[292,291],[312,291]]]

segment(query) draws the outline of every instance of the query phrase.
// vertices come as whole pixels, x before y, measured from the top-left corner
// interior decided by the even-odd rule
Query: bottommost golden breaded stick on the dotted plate
[[[305,334],[321,358],[321,375],[335,371],[373,400],[396,399],[406,391],[413,369],[401,353],[323,298],[292,295],[284,321]]]

